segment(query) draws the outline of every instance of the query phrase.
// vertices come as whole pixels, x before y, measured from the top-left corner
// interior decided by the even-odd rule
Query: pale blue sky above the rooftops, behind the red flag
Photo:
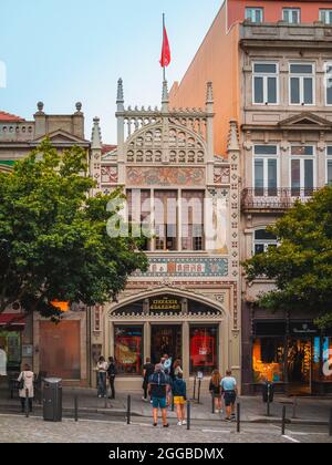
[[[222,0],[0,0],[0,110],[31,118],[83,103],[86,134],[101,117],[103,142],[116,143],[116,82],[127,105],[159,105],[162,13],[172,46],[169,86],[180,80]],[[0,82],[1,84],[1,82]]]

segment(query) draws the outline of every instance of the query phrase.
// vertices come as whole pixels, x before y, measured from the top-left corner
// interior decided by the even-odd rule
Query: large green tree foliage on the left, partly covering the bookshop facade
[[[0,173],[0,313],[19,301],[29,313],[59,318],[54,300],[102,304],[135,270],[146,270],[139,240],[111,238],[110,200],[89,193],[86,153],[60,155],[44,141],[11,174]]]

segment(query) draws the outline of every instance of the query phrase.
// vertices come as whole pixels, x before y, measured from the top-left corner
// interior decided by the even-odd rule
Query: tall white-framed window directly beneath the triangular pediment
[[[311,196],[315,177],[314,147],[312,145],[293,145],[290,162],[292,196]]]

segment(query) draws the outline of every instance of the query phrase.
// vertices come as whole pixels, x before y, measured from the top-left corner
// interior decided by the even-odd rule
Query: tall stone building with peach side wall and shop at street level
[[[228,124],[238,122],[241,260],[276,247],[267,227],[332,183],[331,2],[290,3],[224,2],[170,92],[172,105],[199,105],[203,82],[214,82],[215,149],[226,159]],[[332,331],[320,331],[305,308],[257,308],[258,296],[272,288],[263,278],[241,278],[242,392],[259,391],[266,380],[290,394],[331,392],[324,366]]]

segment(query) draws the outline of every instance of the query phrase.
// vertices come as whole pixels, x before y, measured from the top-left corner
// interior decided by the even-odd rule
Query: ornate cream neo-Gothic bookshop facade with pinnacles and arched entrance
[[[211,83],[204,110],[170,108],[166,82],[160,108],[132,108],[120,80],[116,117],[117,147],[104,154],[94,121],[93,194],[123,188],[128,223],[153,234],[144,242],[147,272],[92,311],[92,365],[100,354],[115,356],[129,389],[141,389],[145,359],[163,353],[181,360],[186,379],[214,368],[240,379],[237,125],[225,162],[214,152]]]

